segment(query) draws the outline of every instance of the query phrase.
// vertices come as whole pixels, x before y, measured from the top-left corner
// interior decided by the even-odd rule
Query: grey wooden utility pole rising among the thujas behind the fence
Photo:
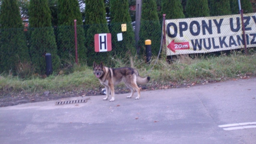
[[[137,54],[139,54],[139,28],[140,28],[140,19],[141,19],[141,7],[142,7],[142,0],[136,0],[135,40],[136,40]]]

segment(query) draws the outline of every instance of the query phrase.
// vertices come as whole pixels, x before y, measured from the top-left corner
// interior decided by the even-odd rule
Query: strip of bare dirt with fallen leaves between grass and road
[[[237,79],[233,79],[237,80]],[[220,80],[219,80],[220,81]],[[139,86],[141,91],[148,90],[160,90],[160,89],[170,89],[170,88],[190,88],[195,85],[202,85],[212,82],[218,82],[217,80],[212,81],[202,81],[202,82],[169,82],[169,83],[157,83],[151,82],[147,85]],[[28,93],[28,92],[11,92],[11,91],[0,91],[0,107],[13,106],[17,104],[25,104],[39,101],[51,101],[57,100],[61,98],[69,98],[69,97],[78,97],[78,96],[98,96],[101,94],[101,90],[103,87],[95,88],[94,90],[72,90],[72,91],[44,91],[37,93]],[[130,90],[126,87],[116,87],[116,94],[122,93],[130,93]]]

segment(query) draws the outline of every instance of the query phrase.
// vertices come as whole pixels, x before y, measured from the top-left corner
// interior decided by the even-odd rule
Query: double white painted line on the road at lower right
[[[256,128],[256,122],[243,122],[243,123],[234,123],[234,124],[227,124],[227,125],[219,125],[220,128],[223,128],[225,131],[230,130],[238,130],[238,129],[245,129],[245,128]],[[244,126],[248,125],[248,126]],[[239,126],[239,127],[234,127]],[[225,128],[225,127],[231,127],[231,128]]]

